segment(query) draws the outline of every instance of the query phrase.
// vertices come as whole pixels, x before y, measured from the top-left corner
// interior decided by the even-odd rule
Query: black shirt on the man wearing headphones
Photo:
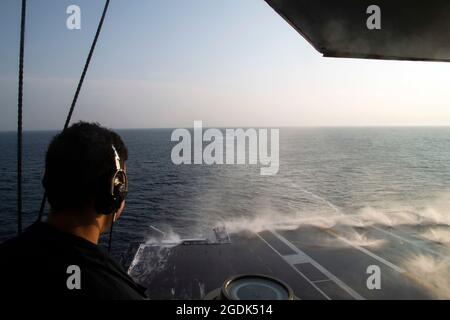
[[[0,296],[145,298],[143,288],[97,245],[43,222],[0,245]]]

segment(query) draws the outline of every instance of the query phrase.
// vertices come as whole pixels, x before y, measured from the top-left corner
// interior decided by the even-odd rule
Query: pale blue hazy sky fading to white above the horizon
[[[66,8],[81,8],[68,30]],[[29,0],[24,129],[60,129],[103,0]],[[0,1],[0,130],[20,1]],[[111,128],[450,125],[450,64],[323,58],[263,0],[112,0],[73,121]]]

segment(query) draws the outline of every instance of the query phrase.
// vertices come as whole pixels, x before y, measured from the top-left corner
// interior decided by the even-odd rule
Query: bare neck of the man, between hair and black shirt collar
[[[94,215],[73,210],[50,213],[47,223],[58,230],[83,238],[93,244],[98,244],[101,234],[100,221]]]

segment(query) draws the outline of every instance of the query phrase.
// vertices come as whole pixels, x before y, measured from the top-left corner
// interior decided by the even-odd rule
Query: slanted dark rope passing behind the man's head
[[[95,46],[97,44],[98,37],[100,35],[100,31],[102,30],[103,21],[105,20],[105,16],[106,16],[106,13],[107,13],[108,7],[109,7],[109,2],[110,2],[110,0],[106,0],[106,2],[105,2],[105,6],[103,8],[102,16],[101,16],[100,21],[99,21],[98,26],[97,26],[97,31],[95,33],[94,40],[92,41],[91,48],[89,50],[89,54],[88,54],[86,62],[84,64],[83,72],[81,73],[81,77],[80,77],[80,80],[78,81],[77,89],[75,91],[75,95],[73,97],[72,104],[70,105],[69,113],[67,114],[66,122],[64,123],[63,131],[66,130],[67,127],[70,124],[70,120],[72,118],[73,110],[75,109],[75,105],[76,105],[76,103],[78,101],[78,96],[80,94],[81,87],[83,86],[84,78],[86,77],[86,73],[87,73],[87,70],[89,68],[89,64],[91,62],[92,55],[94,54],[94,49],[95,49]],[[39,208],[38,221],[42,220],[42,215],[43,215],[44,210],[45,210],[46,200],[47,200],[47,193],[44,192],[44,196],[42,197],[42,201],[41,201],[41,206]]]

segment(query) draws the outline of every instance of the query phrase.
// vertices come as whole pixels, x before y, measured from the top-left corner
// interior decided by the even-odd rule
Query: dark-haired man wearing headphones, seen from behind
[[[79,122],[53,138],[43,186],[50,203],[0,245],[0,288],[12,298],[143,299],[140,286],[98,247],[125,206],[128,151],[116,133]]]

